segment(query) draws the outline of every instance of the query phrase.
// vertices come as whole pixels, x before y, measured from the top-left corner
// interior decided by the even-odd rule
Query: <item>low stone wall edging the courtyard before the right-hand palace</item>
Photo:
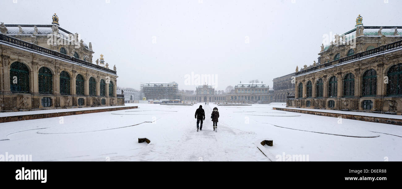
[[[274,110],[281,110],[281,111],[290,111],[296,113],[307,113],[312,115],[322,115],[328,117],[342,117],[345,119],[354,119],[359,121],[369,121],[374,123],[386,123],[392,125],[402,125],[402,119],[394,119],[394,118],[386,118],[386,117],[373,117],[373,116],[364,116],[364,115],[351,115],[351,114],[344,114],[344,113],[330,113],[330,112],[321,112],[321,111],[308,111],[308,110],[297,110],[297,109],[288,109],[288,108],[275,108]]]

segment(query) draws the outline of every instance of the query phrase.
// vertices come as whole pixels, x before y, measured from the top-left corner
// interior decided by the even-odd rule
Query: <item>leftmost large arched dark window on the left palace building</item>
[[[11,92],[29,92],[29,70],[25,64],[14,62],[10,66]]]

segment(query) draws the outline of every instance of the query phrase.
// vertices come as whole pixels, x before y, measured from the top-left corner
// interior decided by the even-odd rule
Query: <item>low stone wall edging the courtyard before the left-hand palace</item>
[[[92,109],[92,110],[81,110],[81,111],[66,111],[66,112],[55,112],[55,113],[39,113],[39,114],[30,114],[30,115],[15,115],[15,116],[6,116],[0,117],[0,123],[11,122],[11,121],[23,121],[30,119],[42,119],[49,117],[60,117],[67,115],[79,115],[85,113],[98,113],[105,111],[117,111],[117,110],[126,110],[126,109],[135,109],[138,106],[129,106],[129,107],[115,107],[115,108],[104,108],[104,109]]]

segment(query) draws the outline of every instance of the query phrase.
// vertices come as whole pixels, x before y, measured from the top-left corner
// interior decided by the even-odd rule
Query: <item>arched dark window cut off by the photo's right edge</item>
[[[402,95],[402,64],[392,66],[387,76],[387,95]]]

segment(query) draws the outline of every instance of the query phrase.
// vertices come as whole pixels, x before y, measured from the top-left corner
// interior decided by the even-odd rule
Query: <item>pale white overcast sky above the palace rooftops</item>
[[[15,3],[16,2],[16,3]],[[387,3],[388,2],[388,3]],[[345,33],[358,14],[366,26],[398,26],[400,0],[1,0],[5,24],[51,24],[92,42],[116,65],[117,85],[217,74],[215,90],[273,78],[313,64],[323,35]],[[156,43],[152,43],[153,37]],[[246,36],[250,43],[245,43]]]

